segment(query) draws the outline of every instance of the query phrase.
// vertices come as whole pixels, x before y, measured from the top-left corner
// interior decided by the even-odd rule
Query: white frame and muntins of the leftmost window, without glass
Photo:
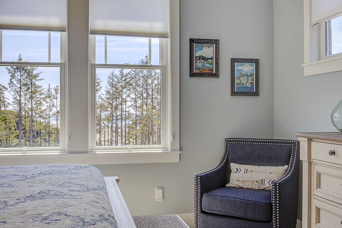
[[[27,66],[27,67],[60,67],[60,146],[59,147],[19,147],[0,148],[0,154],[26,153],[65,153],[66,152],[66,121],[65,121],[65,32],[61,34],[61,60],[51,62],[51,32],[48,32],[48,62],[6,62],[2,61],[2,30],[0,30],[0,66]]]

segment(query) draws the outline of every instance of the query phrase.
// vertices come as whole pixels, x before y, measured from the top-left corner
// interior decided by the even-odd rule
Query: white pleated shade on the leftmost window
[[[0,29],[66,31],[66,0],[1,0]]]

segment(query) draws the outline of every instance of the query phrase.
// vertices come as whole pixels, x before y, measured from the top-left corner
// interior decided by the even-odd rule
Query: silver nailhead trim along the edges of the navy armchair
[[[273,205],[273,227],[279,227],[279,184],[282,180],[285,180],[293,171],[294,168],[294,162],[297,158],[297,147],[298,147],[298,142],[293,141],[293,140],[272,140],[272,139],[230,139],[233,141],[239,140],[239,141],[248,141],[248,142],[231,142],[229,141],[229,143],[242,143],[242,144],[267,144],[267,145],[291,145],[295,142],[295,150],[294,150],[294,159],[292,159],[293,156],[293,146],[292,146],[292,151],[291,151],[291,156],[290,156],[290,163],[289,163],[289,167],[291,167],[291,170],[287,170],[286,173],[284,174],[284,176],[281,177],[281,180],[277,181],[277,186],[275,187],[275,184],[272,184],[272,195],[273,195],[273,200],[272,200],[272,205]],[[223,151],[223,155],[221,157],[221,160],[219,162],[219,164],[212,170],[209,170],[205,173],[202,173],[201,175],[207,174],[209,172],[212,172],[218,168],[220,168],[224,162],[227,159],[228,156],[228,151],[229,151],[229,146],[227,146],[227,141],[225,140],[225,144],[224,144],[224,151]],[[251,142],[251,141],[265,141],[265,143],[260,143],[260,142]],[[278,143],[270,143],[270,142],[278,142]],[[291,144],[289,144],[289,142],[291,142]],[[293,163],[293,164],[292,164]],[[199,228],[199,213],[200,213],[200,176],[198,176],[198,185],[197,185],[197,189],[195,188],[195,210],[197,210],[197,213],[195,213],[195,228]],[[196,184],[196,176],[195,176],[195,184]],[[276,190],[275,190],[276,189]],[[277,197],[275,197],[275,193],[277,194]],[[196,195],[197,195],[197,199],[196,199]],[[276,204],[274,203],[276,199]],[[277,210],[275,208],[275,206],[277,206]],[[275,215],[276,213],[276,215]],[[277,216],[277,220],[275,218],[275,216]],[[197,220],[197,223],[196,223]],[[276,222],[277,221],[277,222]]]

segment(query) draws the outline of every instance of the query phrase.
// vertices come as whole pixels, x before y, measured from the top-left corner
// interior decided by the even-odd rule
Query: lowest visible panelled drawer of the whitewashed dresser
[[[313,200],[313,227],[341,228],[342,209],[329,203]]]

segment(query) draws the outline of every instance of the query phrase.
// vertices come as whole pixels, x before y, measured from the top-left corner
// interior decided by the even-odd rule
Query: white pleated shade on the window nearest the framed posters
[[[169,0],[90,0],[90,34],[169,37]]]

